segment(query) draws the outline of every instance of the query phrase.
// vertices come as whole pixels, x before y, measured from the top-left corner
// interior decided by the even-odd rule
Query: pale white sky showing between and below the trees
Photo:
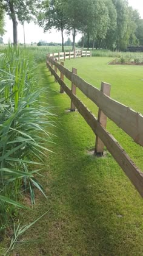
[[[71,0],[72,1],[72,0]],[[133,9],[138,9],[141,17],[143,18],[143,0],[128,0],[128,4],[133,7]],[[12,21],[8,19],[8,16],[5,18],[5,30],[7,31],[4,35],[4,43],[7,43],[8,40],[13,42],[13,27]],[[67,40],[67,35],[64,35],[64,40]],[[71,38],[71,36],[70,36]],[[76,41],[81,38],[81,35],[76,36]],[[61,43],[61,33],[52,30],[52,33],[46,32],[44,34],[43,29],[34,23],[27,24],[25,23],[25,41],[26,43],[38,43],[38,41],[51,41],[55,43]],[[72,38],[71,38],[72,40]],[[24,33],[23,27],[21,24],[18,24],[18,41],[19,43],[24,43]]]

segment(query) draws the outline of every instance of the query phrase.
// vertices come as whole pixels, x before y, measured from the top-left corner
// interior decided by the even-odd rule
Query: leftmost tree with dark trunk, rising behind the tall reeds
[[[21,24],[24,21],[30,21],[35,15],[36,5],[38,0],[2,0],[0,3],[0,9],[5,11],[10,17],[13,23],[13,44],[18,44],[18,20]]]

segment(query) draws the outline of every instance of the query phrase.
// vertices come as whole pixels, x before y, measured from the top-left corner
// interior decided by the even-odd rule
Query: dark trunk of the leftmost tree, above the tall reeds
[[[9,7],[11,12],[10,16],[12,18],[12,23],[13,23],[13,45],[17,46],[18,45],[18,22],[16,20],[15,8],[13,6],[12,1],[10,1]]]

